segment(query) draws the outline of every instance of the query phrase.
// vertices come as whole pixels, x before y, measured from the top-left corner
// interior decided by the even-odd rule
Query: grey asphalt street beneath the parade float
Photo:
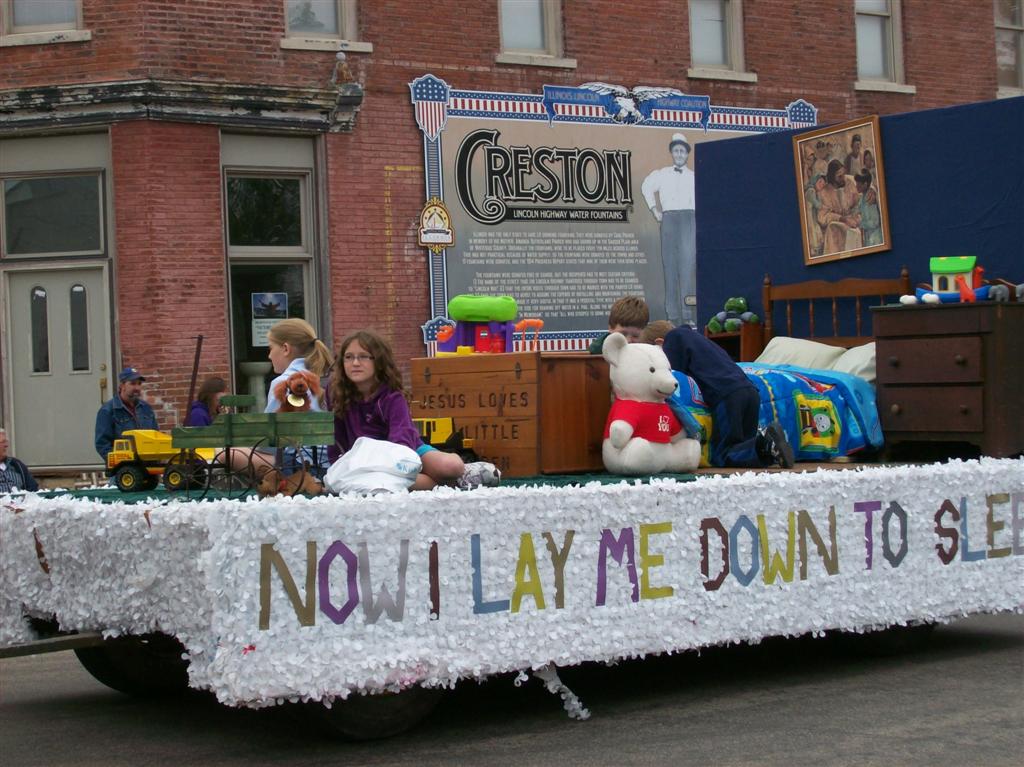
[[[288,711],[137,699],[70,652],[0,661],[0,761],[103,765],[1020,765],[1024,615],[981,615],[888,654],[772,639],[561,672],[592,717],[512,676],[446,693],[414,730],[326,739]]]

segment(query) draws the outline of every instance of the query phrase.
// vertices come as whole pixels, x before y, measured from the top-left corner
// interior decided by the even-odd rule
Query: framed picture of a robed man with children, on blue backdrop
[[[879,117],[793,137],[807,265],[892,249]]]

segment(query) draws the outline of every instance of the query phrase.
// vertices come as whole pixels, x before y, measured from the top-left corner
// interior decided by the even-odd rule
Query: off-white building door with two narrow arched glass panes
[[[101,267],[7,271],[11,453],[31,467],[98,465],[96,410],[113,396]]]

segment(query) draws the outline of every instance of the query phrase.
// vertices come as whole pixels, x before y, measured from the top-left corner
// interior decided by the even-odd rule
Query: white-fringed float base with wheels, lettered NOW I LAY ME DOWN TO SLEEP
[[[1024,460],[987,458],[371,497],[6,496],[0,647],[38,645],[53,620],[112,686],[184,684],[186,665],[224,705],[299,705],[362,736],[506,672],[585,717],[558,668],[1020,612],[1022,502]]]

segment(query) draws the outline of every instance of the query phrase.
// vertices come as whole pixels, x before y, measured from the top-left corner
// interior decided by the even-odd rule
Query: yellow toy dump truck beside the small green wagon
[[[215,450],[181,450],[171,444],[171,435],[154,429],[129,429],[114,440],[106,454],[106,476],[123,493],[152,491],[164,478],[164,486],[178,491],[206,483]]]

